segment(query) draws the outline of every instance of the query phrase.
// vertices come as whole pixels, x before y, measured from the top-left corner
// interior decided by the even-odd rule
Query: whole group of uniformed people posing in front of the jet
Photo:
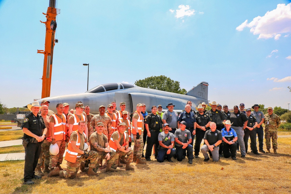
[[[166,106],[168,110],[164,113],[161,105],[152,106],[150,114],[146,112],[146,105],[139,103],[132,122],[129,112],[125,111],[125,102],[120,103],[120,111],[116,110],[116,102],[109,104],[106,111],[105,106],[100,106],[97,115],[91,114],[90,107],[84,107],[81,102],[75,104],[75,110],[70,110],[68,103],[57,104],[56,113],[49,110],[47,100],[40,105],[37,101],[28,104],[32,113],[24,118],[21,126],[25,147],[24,184],[34,184],[32,179],[40,179],[44,172],[49,173],[48,177],[74,178],[79,169],[95,176],[99,175],[98,168],[116,172],[116,168],[123,167],[123,164],[125,170],[134,170],[130,163],[146,164],[151,160],[152,151],[158,162],[173,162],[172,157],[182,161],[187,156],[188,163],[192,164],[194,156],[198,158],[202,139],[201,152],[205,162],[210,157],[218,161],[222,156],[231,156],[235,160],[237,142],[244,157],[249,136],[251,152],[258,154],[256,134],[259,151],[265,153],[262,148],[264,122],[267,151],[270,152],[272,138],[276,153],[276,128],[280,125],[280,118],[273,114],[271,107],[268,114],[263,115],[257,104],[252,107],[253,112],[247,109],[246,114],[241,112],[244,107],[238,111],[238,106],[235,106],[234,112],[230,113],[227,105],[221,111],[221,106],[215,101],[209,104],[209,111],[205,110],[205,103],[199,104],[194,111],[191,101],[188,101],[185,110],[178,115],[173,103]],[[61,167],[64,153],[65,170]]]

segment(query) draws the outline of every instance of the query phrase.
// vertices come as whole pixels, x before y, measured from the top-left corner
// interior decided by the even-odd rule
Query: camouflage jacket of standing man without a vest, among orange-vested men
[[[103,130],[103,134],[106,135],[108,141],[109,141],[109,137],[111,136],[112,129],[111,129],[111,118],[109,116],[107,116],[106,114],[104,114],[104,117],[100,117],[100,114],[95,115],[94,117],[92,117],[91,119],[91,128],[90,128],[90,134],[93,134],[95,132],[95,127],[97,127],[97,123],[98,122],[102,122],[104,124],[104,130]]]

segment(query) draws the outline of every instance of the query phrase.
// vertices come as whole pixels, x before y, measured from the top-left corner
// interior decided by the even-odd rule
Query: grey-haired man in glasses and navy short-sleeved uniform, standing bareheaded
[[[185,121],[187,123],[186,128],[191,133],[192,142],[190,143],[193,146],[194,136],[196,134],[196,119],[195,113],[191,112],[191,106],[186,104],[185,111],[183,111],[178,118],[178,128],[180,127],[180,122]]]

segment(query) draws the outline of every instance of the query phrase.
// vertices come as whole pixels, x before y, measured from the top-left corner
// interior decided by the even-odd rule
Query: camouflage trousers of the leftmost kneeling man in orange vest
[[[82,161],[89,160],[89,167],[94,169],[98,161],[97,159],[98,153],[94,151],[90,151],[90,155],[88,157],[81,155],[81,157],[76,159],[75,163],[67,162],[67,170],[61,170],[60,176],[66,179],[74,179],[77,176]]]

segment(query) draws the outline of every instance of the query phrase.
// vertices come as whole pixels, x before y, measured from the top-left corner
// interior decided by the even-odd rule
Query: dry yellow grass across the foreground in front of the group
[[[290,143],[291,138],[279,138],[278,154],[248,153],[244,159],[237,154],[237,161],[222,158],[205,163],[200,153],[192,165],[187,159],[150,161],[133,164],[134,172],[101,170],[98,177],[81,172],[72,180],[45,174],[34,186],[22,184],[24,161],[0,162],[0,193],[291,193]]]

